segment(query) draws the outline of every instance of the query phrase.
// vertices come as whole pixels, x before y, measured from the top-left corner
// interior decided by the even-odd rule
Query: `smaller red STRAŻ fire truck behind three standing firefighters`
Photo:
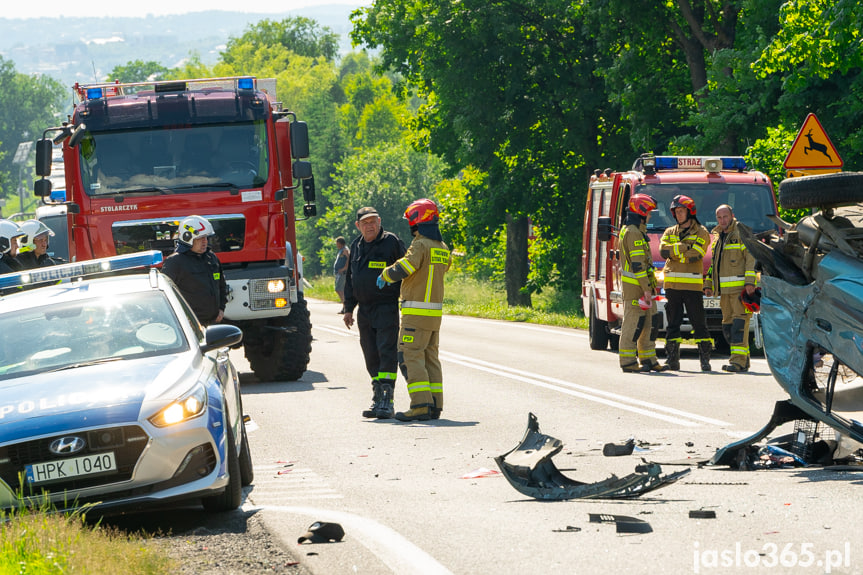
[[[660,335],[664,334],[665,300],[662,289],[662,268],[659,240],[669,226],[674,225],[670,205],[674,196],[682,194],[695,200],[699,221],[708,231],[716,227],[716,208],[728,204],[738,221],[755,234],[777,229],[770,219],[777,214],[773,185],[765,174],[747,170],[742,157],[654,156],[639,157],[632,169],[625,172],[597,170],[590,178],[590,188],[584,212],[584,236],[581,256],[581,301],[589,317],[591,349],[616,349],[623,319],[622,284],[620,280],[620,249],[618,232],[623,227],[627,205],[632,194],[650,194],[657,209],[647,225],[653,264],[657,269],[660,297],[657,300],[662,316]],[[704,271],[710,267],[712,254],[704,258]],[[723,343],[722,312],[718,297],[704,298],[707,326],[714,341]],[[682,331],[692,326],[684,318]],[[753,323],[753,329],[754,324]]]

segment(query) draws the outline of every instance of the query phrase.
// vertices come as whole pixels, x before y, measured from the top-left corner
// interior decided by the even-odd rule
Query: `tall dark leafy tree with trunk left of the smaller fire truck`
[[[576,190],[601,158],[601,137],[609,146],[617,138],[616,116],[595,89],[582,5],[378,0],[352,21],[355,44],[383,48],[379,71],[404,79],[402,96],[422,98],[416,145],[487,174],[471,215],[489,230],[506,226],[507,301],[530,305],[529,217],[561,232],[578,228]],[[578,235],[566,234],[561,262],[578,261]]]

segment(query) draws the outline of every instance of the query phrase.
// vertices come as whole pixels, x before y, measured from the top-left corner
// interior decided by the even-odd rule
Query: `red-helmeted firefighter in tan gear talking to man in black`
[[[378,287],[401,280],[402,325],[399,367],[408,382],[410,409],[396,413],[399,421],[440,418],[443,372],[438,359],[438,334],[443,315],[443,278],[450,252],[443,243],[440,213],[431,200],[420,199],[405,210],[413,241],[403,258],[378,277]]]

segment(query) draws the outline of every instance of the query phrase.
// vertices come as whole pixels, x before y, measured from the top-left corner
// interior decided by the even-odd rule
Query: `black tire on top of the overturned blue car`
[[[860,202],[863,202],[861,172],[788,178],[779,184],[779,205],[786,210],[837,208]]]

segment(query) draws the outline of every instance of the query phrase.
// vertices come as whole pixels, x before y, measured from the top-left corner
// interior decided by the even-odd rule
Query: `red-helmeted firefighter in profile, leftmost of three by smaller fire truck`
[[[656,200],[647,194],[629,198],[626,226],[620,231],[620,267],[623,280],[623,327],[618,352],[620,369],[625,372],[665,371],[656,359],[656,333],[659,316],[653,300],[656,278],[647,221]],[[639,365],[639,361],[641,365]]]

